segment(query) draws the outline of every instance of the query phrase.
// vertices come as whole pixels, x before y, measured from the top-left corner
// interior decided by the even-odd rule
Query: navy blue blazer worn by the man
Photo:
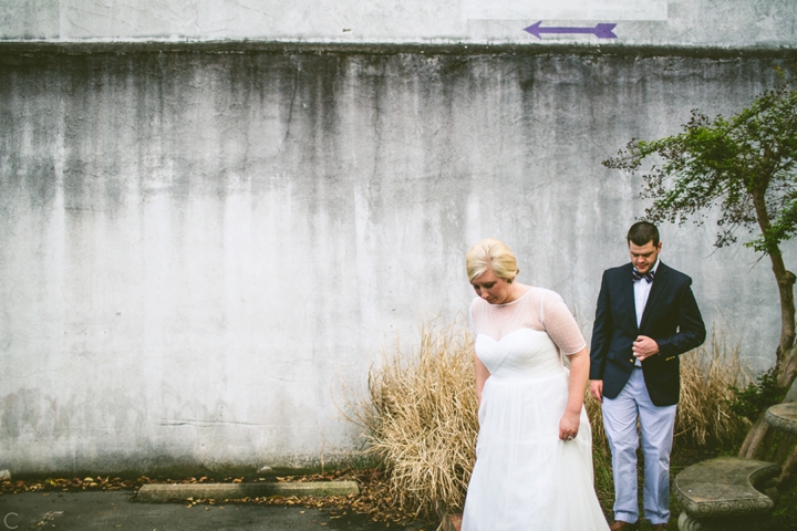
[[[603,272],[592,327],[590,379],[602,379],[603,396],[615,398],[634,371],[632,344],[638,335],[646,335],[659,343],[659,354],[642,362],[648,394],[654,405],[671,406],[681,394],[679,355],[705,341],[705,325],[692,279],[659,261],[636,326],[632,269],[629,262]]]

